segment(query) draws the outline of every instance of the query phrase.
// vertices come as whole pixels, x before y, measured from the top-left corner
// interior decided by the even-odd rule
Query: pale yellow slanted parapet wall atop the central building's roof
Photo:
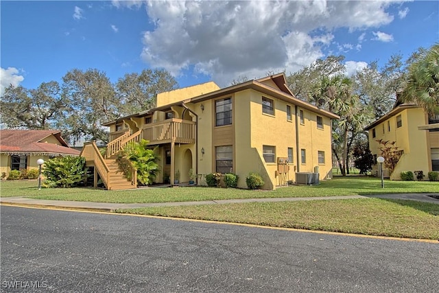
[[[175,102],[184,101],[191,97],[197,97],[206,93],[219,90],[219,86],[215,82],[206,82],[204,84],[197,84],[183,89],[176,89],[174,91],[166,91],[157,95],[157,107],[172,104]]]

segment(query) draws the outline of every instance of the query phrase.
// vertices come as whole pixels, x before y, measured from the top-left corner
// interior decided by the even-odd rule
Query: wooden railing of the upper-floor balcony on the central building
[[[169,143],[195,143],[195,122],[182,119],[167,119],[165,121],[143,126],[143,139],[150,144]]]

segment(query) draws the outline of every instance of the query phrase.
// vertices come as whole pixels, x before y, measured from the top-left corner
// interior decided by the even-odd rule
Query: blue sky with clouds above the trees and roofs
[[[299,70],[330,54],[348,73],[439,40],[439,1],[1,1],[1,91],[71,69],[164,68],[179,85]]]

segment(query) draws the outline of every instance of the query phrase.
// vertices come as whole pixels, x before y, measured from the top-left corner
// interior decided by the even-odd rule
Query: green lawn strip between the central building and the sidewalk
[[[385,180],[381,189],[379,178],[366,176],[336,176],[316,186],[282,187],[274,191],[247,189],[218,189],[209,187],[139,188],[126,191],[106,191],[93,188],[43,188],[38,190],[38,181],[1,181],[0,196],[24,196],[45,200],[75,200],[88,202],[182,202],[196,200],[222,200],[235,198],[285,198],[310,196],[350,196],[369,194],[397,194],[438,192],[439,182],[390,181]]]

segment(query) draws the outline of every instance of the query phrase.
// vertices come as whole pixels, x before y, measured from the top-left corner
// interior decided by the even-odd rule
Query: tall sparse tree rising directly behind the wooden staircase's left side
[[[106,74],[97,69],[73,69],[62,78],[63,95],[69,99],[65,119],[58,121],[70,141],[108,141],[102,123],[119,117],[121,103]]]

